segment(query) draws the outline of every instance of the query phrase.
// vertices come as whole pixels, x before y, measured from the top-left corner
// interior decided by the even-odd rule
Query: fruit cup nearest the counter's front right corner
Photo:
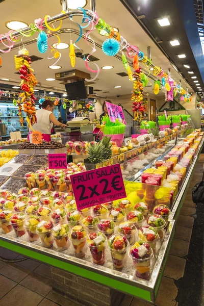
[[[136,269],[136,276],[142,279],[149,279],[152,258],[150,245],[139,240],[131,246],[130,255]]]

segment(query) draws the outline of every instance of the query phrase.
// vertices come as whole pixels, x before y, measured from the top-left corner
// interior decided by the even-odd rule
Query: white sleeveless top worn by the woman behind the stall
[[[51,134],[51,130],[53,127],[53,123],[49,121],[49,115],[53,114],[50,111],[47,110],[37,110],[36,117],[37,117],[37,123],[33,124],[33,130],[39,131],[42,134]],[[31,129],[29,129],[29,132],[32,132]]]

